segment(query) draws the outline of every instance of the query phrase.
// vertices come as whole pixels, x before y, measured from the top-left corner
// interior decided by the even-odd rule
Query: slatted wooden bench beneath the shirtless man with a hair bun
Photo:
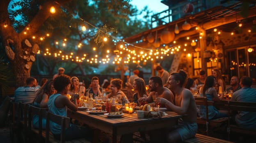
[[[210,136],[205,136],[202,134],[196,134],[194,138],[187,139],[186,141],[183,141],[183,143],[232,143],[232,142],[213,138]]]

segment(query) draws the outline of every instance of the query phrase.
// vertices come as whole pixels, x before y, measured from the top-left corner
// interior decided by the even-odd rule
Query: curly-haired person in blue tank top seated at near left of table
[[[53,80],[54,88],[57,90],[56,94],[50,96],[49,101],[47,103],[48,110],[50,113],[59,115],[59,116],[67,116],[67,108],[72,111],[78,110],[79,95],[75,94],[73,96],[73,103],[69,100],[68,97],[65,96],[69,91],[69,87],[71,85],[71,79],[69,76],[62,75],[58,76]],[[60,139],[61,134],[61,126],[57,125],[54,122],[50,122],[50,131],[53,133],[55,139]],[[71,124],[70,127],[66,128],[65,131],[65,139],[72,140],[77,138],[89,138],[92,136],[93,131],[88,126],[78,126]]]

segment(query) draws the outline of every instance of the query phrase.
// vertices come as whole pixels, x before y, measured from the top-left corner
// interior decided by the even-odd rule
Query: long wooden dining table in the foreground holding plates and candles
[[[162,118],[138,118],[137,114],[134,113],[124,113],[121,118],[107,118],[104,114],[94,115],[86,111],[72,112],[68,109],[68,117],[112,134],[113,143],[117,142],[117,135],[132,135],[134,132],[161,129],[167,127],[167,125],[178,125],[178,118],[181,118],[182,115],[175,112],[166,113],[168,115],[162,116]]]

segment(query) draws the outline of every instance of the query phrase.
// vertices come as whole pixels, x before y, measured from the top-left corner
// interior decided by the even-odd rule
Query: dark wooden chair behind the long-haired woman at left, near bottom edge
[[[46,118],[46,109],[30,105],[28,115],[29,115],[28,116],[28,130],[29,130],[29,133],[35,133],[35,135],[39,139],[39,143],[43,143],[43,141],[45,141],[46,135],[45,135],[45,132],[43,132],[42,118]],[[38,130],[32,128],[32,118],[33,118],[34,115],[39,116],[39,129]],[[30,141],[31,141],[31,139],[32,139],[32,136],[30,137]]]

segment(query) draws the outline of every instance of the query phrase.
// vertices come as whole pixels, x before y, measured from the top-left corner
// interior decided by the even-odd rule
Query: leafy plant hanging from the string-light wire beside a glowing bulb
[[[111,32],[116,32],[117,30],[110,27],[108,28],[107,25],[104,25],[103,27],[101,27],[100,29],[98,29],[98,31],[95,34],[95,39],[94,42],[96,42],[96,45],[101,44],[100,48],[102,48],[104,46],[104,38],[109,38],[110,37],[110,33]]]

